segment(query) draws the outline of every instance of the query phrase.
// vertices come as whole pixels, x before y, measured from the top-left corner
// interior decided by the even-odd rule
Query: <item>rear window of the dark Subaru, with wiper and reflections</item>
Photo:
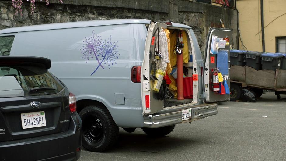
[[[0,65],[0,97],[49,95],[63,88],[64,85],[44,67]]]

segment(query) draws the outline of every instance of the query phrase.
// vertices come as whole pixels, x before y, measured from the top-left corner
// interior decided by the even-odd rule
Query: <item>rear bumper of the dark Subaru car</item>
[[[82,122],[77,113],[72,114],[68,131],[0,142],[0,160],[75,161],[79,159],[82,144]]]

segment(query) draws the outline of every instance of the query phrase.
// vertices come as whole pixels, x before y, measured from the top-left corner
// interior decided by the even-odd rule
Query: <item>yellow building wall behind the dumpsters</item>
[[[276,52],[275,37],[286,36],[286,0],[263,0],[263,6],[265,52]],[[236,7],[243,44],[248,50],[262,51],[260,0],[237,0]]]

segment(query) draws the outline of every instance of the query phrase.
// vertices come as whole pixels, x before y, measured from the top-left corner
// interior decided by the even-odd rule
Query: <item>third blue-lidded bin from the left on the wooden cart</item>
[[[280,69],[282,54],[263,53],[261,54],[261,69],[274,70]]]

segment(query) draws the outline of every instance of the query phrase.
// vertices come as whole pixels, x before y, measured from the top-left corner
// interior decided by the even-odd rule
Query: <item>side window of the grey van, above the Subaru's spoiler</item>
[[[15,36],[0,37],[0,56],[9,56]]]

